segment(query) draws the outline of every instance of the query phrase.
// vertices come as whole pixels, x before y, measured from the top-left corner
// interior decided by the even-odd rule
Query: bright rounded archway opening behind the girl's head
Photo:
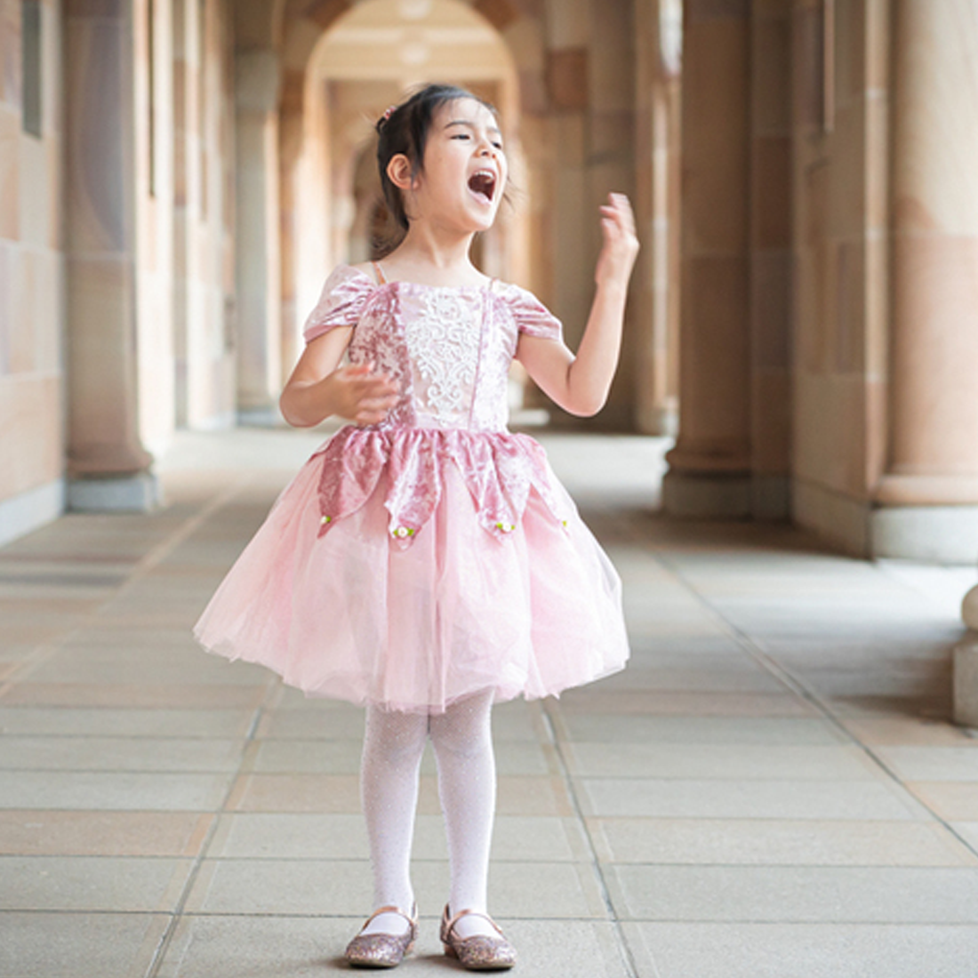
[[[309,52],[301,134],[284,160],[287,363],[295,354],[289,345],[330,268],[370,257],[380,199],[374,123],[426,80],[462,85],[496,105],[514,183],[525,178],[516,69],[491,23],[459,0],[367,0],[337,18]],[[525,210],[504,213],[477,245],[487,274],[527,281],[526,236]]]

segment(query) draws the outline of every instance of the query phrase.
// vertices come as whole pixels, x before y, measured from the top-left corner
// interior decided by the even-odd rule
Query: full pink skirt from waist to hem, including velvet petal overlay
[[[558,694],[628,658],[618,575],[533,439],[337,432],[200,618],[309,695],[441,712]]]

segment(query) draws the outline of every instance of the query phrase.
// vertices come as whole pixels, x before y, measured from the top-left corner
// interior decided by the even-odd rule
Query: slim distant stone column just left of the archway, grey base
[[[239,51],[235,71],[238,417],[267,423],[282,387],[279,57]]]

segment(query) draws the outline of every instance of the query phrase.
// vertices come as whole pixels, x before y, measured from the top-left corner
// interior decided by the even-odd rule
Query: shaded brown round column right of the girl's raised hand
[[[688,0],[680,426],[665,510],[750,512],[750,4]]]

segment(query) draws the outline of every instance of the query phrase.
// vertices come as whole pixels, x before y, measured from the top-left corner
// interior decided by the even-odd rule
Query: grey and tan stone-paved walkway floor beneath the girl
[[[548,436],[634,658],[498,709],[493,910],[535,978],[973,978],[978,739],[948,723],[971,569],[657,516],[661,443]],[[153,515],[0,551],[0,975],[299,978],[370,910],[362,717],[189,629],[308,434],[185,436]],[[260,467],[259,467],[260,466]],[[429,759],[424,914],[448,975]]]

